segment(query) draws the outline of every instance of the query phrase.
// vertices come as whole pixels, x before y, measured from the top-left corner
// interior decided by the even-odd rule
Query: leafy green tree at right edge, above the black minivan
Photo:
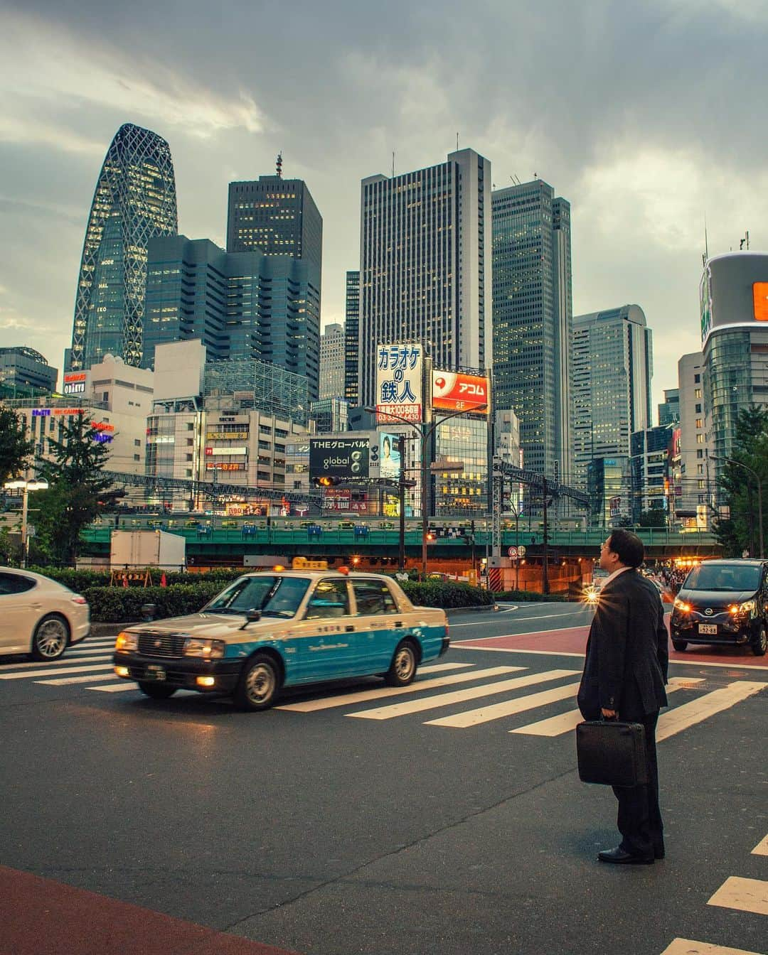
[[[768,409],[753,405],[739,411],[731,458],[738,463],[722,466],[718,484],[725,494],[730,518],[715,521],[715,536],[728,556],[740,557],[743,551],[757,557],[759,550],[757,479],[745,468],[757,473],[763,491],[768,491]],[[739,464],[745,467],[739,467]],[[763,495],[765,497],[765,495]],[[763,512],[768,498],[763,500]],[[763,534],[765,519],[763,513]]]

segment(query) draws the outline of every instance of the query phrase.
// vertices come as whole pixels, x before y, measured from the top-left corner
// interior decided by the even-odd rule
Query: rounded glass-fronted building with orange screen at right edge
[[[713,456],[729,457],[739,411],[768,404],[768,254],[708,259],[699,297],[708,444]],[[722,462],[714,463],[716,483]]]

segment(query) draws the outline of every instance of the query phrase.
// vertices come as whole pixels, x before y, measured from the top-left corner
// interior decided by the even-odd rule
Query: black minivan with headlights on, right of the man
[[[731,644],[766,648],[768,562],[705,561],[686,577],[672,605],[672,647]]]

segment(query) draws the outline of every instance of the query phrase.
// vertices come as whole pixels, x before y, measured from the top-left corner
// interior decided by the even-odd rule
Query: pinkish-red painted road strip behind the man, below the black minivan
[[[587,647],[588,626],[568,626],[558,630],[543,630],[538,633],[504,634],[501,637],[480,637],[478,640],[455,640],[452,647],[497,650],[535,650],[546,653],[581,653]],[[717,664],[722,667],[768,668],[768,657],[758,657],[749,647],[694,647],[689,644],[684,653],[670,646],[670,660],[674,663]]]

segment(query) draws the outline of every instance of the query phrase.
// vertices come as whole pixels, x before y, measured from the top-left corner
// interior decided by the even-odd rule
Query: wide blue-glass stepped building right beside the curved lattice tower
[[[198,338],[209,361],[276,365],[317,398],[320,302],[307,263],[173,236],[150,242],[146,286],[143,367],[158,345]]]

